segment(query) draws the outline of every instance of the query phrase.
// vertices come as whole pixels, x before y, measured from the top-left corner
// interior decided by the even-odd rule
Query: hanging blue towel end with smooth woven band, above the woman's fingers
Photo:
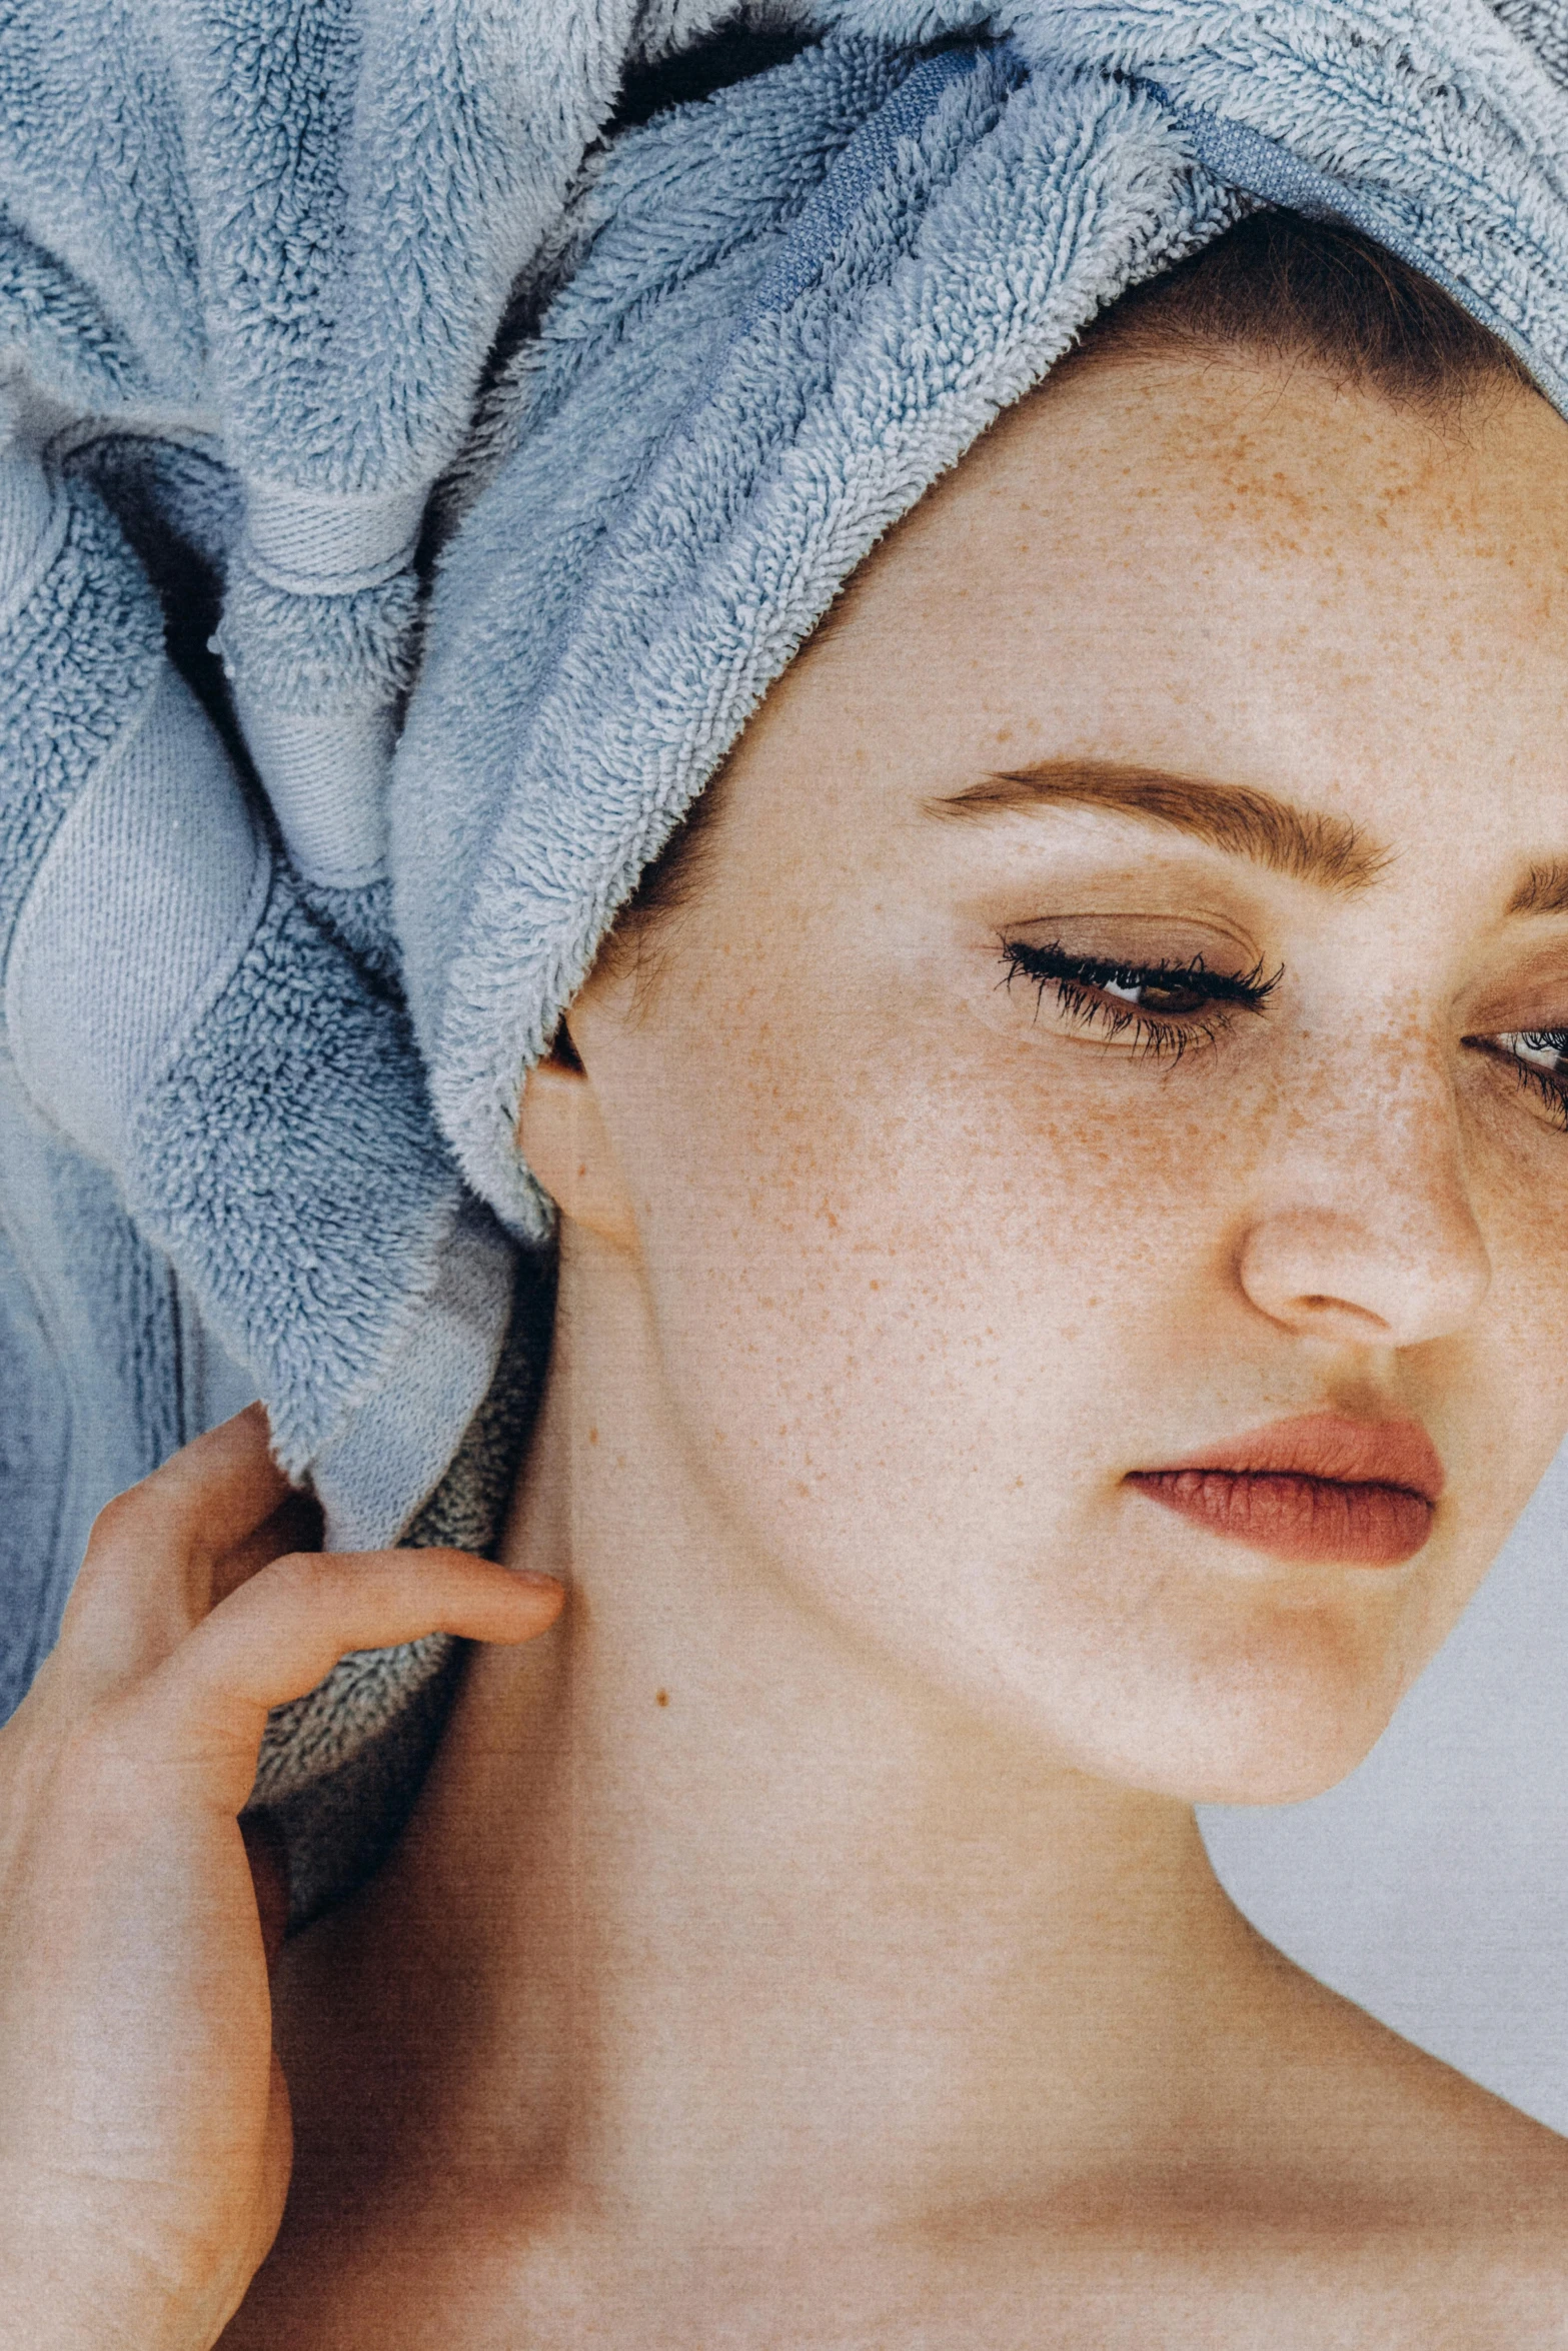
[[[89,468],[35,447],[24,411],[0,449],[5,1041],[188,1274],[336,1535],[388,1540],[484,1396],[508,1251],[430,1128],[402,1009],[303,903]]]

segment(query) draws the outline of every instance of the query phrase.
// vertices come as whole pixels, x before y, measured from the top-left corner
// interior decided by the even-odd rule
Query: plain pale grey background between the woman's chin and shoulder
[[[1568,2132],[1568,1446],[1366,1763],[1199,1820],[1291,1958]]]

